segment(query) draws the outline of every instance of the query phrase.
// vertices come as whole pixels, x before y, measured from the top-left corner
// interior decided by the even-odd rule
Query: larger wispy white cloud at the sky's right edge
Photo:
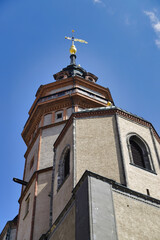
[[[160,19],[156,15],[156,10],[153,12],[144,11],[144,13],[149,17],[151,26],[157,35],[157,39],[155,40],[155,44],[158,48],[160,48]]]

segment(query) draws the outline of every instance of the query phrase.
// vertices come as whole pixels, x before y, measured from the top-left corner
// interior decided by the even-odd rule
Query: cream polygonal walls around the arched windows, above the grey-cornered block
[[[85,114],[84,114],[85,113]],[[94,116],[91,116],[93,113]],[[83,173],[88,170],[101,176],[110,178],[121,184],[126,184],[128,188],[151,197],[160,197],[159,181],[159,143],[156,138],[153,140],[150,124],[140,123],[140,119],[131,120],[129,117],[116,115],[114,112],[109,115],[105,113],[98,115],[98,112],[82,111],[75,114],[72,124],[65,128],[64,133],[56,141],[56,164],[60,161],[60,156],[67,144],[73,146],[73,154],[70,158],[70,174],[66,182],[62,185],[62,193],[54,196],[62,199],[71,192],[70,186],[74,187],[80,180]],[[124,112],[125,113],[125,112]],[[130,115],[130,118],[132,115]],[[148,146],[147,154],[150,156],[151,170],[140,167],[131,161],[129,150],[129,136],[136,135],[144,140]],[[69,137],[70,136],[70,137]],[[73,137],[72,141],[71,138]],[[73,158],[72,158],[73,157]],[[55,184],[57,184],[58,165],[55,169]],[[56,185],[54,185],[54,191]],[[69,197],[69,195],[67,195]],[[62,200],[60,200],[62,203]],[[65,205],[65,201],[63,204]],[[63,205],[62,204],[62,205]],[[59,200],[55,201],[54,207],[59,205]],[[60,207],[62,209],[62,207]],[[57,211],[57,210],[56,210]],[[58,213],[56,213],[58,216]],[[54,222],[55,218],[53,219]]]

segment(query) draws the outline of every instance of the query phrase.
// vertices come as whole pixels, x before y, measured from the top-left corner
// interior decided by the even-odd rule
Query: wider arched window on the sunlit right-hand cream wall
[[[141,138],[136,135],[129,137],[129,151],[133,164],[147,170],[152,170],[149,148]]]

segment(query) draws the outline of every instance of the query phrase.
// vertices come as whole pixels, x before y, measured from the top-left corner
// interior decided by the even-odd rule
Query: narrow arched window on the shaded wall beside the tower
[[[66,177],[70,173],[70,146],[68,145],[62,152],[59,166],[58,166],[58,187],[59,189],[63,182],[65,181]]]

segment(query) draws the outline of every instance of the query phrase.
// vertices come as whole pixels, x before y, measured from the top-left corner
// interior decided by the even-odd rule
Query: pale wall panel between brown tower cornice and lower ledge
[[[63,127],[64,124],[61,124],[42,130],[39,169],[53,166],[53,144]]]

